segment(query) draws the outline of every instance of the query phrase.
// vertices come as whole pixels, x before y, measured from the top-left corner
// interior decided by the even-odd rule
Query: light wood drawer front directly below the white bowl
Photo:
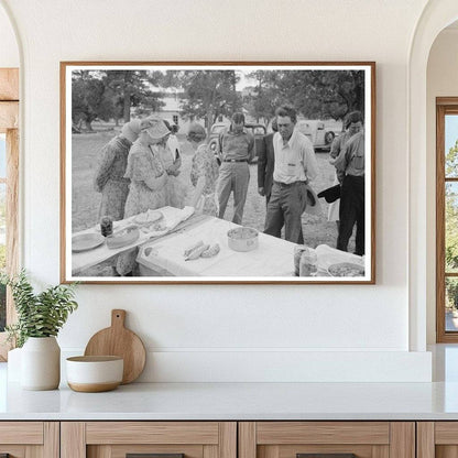
[[[65,422],[62,458],[126,458],[127,454],[183,454],[237,458],[236,422]]]

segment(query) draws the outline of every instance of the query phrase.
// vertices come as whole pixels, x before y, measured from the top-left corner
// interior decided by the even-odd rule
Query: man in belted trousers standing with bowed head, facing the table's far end
[[[232,222],[241,225],[250,181],[248,164],[254,156],[254,138],[244,129],[243,113],[232,115],[231,124],[220,133],[218,144],[222,156],[216,188],[219,218],[225,217],[230,194],[233,192]]]

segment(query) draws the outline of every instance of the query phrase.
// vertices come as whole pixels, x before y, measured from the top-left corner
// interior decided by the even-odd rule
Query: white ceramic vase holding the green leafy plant
[[[55,390],[61,382],[61,348],[55,337],[29,337],[21,351],[21,388]]]

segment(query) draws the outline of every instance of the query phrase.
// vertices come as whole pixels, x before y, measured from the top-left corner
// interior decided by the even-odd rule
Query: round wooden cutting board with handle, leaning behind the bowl
[[[95,334],[85,356],[118,356],[124,359],[122,384],[133,382],[143,371],[146,351],[137,334],[124,327],[126,310],[111,310],[111,326]]]

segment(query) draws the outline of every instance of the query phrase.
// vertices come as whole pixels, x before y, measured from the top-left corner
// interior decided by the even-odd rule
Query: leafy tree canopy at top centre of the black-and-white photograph
[[[209,129],[220,115],[231,116],[241,109],[238,80],[233,70],[167,70],[162,84],[182,88],[183,113],[190,119],[206,119]]]

